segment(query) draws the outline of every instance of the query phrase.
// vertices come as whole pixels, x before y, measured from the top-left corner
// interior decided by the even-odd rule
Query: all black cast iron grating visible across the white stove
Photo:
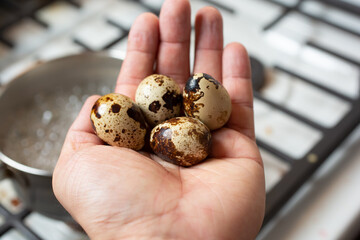
[[[68,3],[73,4],[74,6],[81,8],[81,5],[76,0],[64,0]],[[149,11],[152,11],[155,14],[159,14],[159,9],[153,9],[143,3],[140,0],[135,0],[142,6],[149,9]],[[358,33],[344,28],[343,26],[328,22],[324,19],[320,19],[316,16],[312,16],[308,13],[305,13],[301,10],[300,6],[306,0],[299,0],[297,4],[295,4],[292,7],[289,7],[277,0],[264,0],[267,2],[271,2],[273,4],[280,5],[283,7],[284,11],[282,14],[277,16],[275,19],[273,19],[270,23],[268,23],[264,27],[264,31],[267,31],[271,29],[272,27],[276,26],[277,23],[279,23],[287,14],[289,13],[299,13],[301,15],[304,15],[310,19],[313,19],[315,21],[319,21],[324,24],[328,24],[332,27],[341,29],[342,31],[354,34],[356,36],[359,36]],[[324,4],[328,4],[332,7],[336,7],[339,9],[342,9],[344,11],[347,11],[352,14],[356,14],[360,16],[360,8],[354,5],[351,5],[348,2],[345,1],[335,1],[335,0],[317,0],[319,2],[322,2]],[[25,17],[32,18],[34,21],[38,22],[41,26],[47,27],[46,23],[41,22],[35,17],[35,12],[39,10],[40,8],[47,6],[48,4],[54,2],[53,0],[37,0],[37,1],[24,1],[24,0],[17,0],[17,1],[10,1],[10,0],[2,0],[0,1],[0,42],[3,42],[4,44],[13,47],[13,43],[9,42],[7,39],[5,39],[2,36],[2,33],[4,30],[6,30],[8,27],[12,26],[13,24],[17,23],[21,19]],[[230,14],[234,13],[234,10],[229,8],[228,5],[222,5],[218,1],[215,2],[213,0],[206,0],[206,2],[216,5],[216,7],[221,8],[224,11],[229,12]],[[215,4],[216,3],[216,4]],[[112,22],[111,20],[107,20],[107,23],[118,27],[122,30],[123,34],[118,36],[118,38],[114,39],[111,43],[109,43],[107,46],[103,48],[103,50],[111,48],[114,44],[118,43],[122,39],[124,39],[128,33],[129,29],[124,29],[122,26],[119,26],[117,23]],[[74,43],[82,46],[84,49],[88,51],[92,51],[92,49],[87,46],[85,43],[73,39]],[[346,62],[349,62],[350,64],[356,66],[360,69],[360,63],[354,59],[351,59],[349,57],[340,55],[338,53],[333,52],[330,49],[327,49],[326,47],[320,46],[317,43],[314,43],[312,41],[306,42],[307,46],[314,47],[322,52],[326,52],[330,55],[335,56],[336,58],[340,58]],[[264,219],[264,225],[271,220],[276,213],[284,206],[284,204],[293,196],[293,194],[310,178],[310,176],[324,163],[327,159],[327,157],[343,142],[343,140],[356,128],[356,126],[360,122],[360,88],[358,90],[359,94],[356,99],[349,98],[339,92],[336,92],[330,88],[327,88],[326,86],[320,85],[315,83],[309,78],[306,78],[304,76],[301,76],[300,74],[290,71],[282,66],[272,66],[271,68],[284,72],[288,75],[294,76],[300,81],[304,81],[307,84],[310,84],[314,88],[321,89],[322,91],[325,91],[326,93],[336,96],[337,98],[340,98],[347,102],[351,107],[350,110],[343,116],[343,118],[333,127],[327,128],[324,127],[307,117],[296,113],[292,111],[291,109],[288,109],[284,106],[281,106],[270,99],[265,98],[261,94],[261,86],[263,84],[262,78],[265,77],[264,75],[264,69],[263,65],[261,63],[261,59],[255,59],[251,58],[251,64],[253,67],[253,70],[256,72],[253,73],[254,79],[254,97],[267,104],[268,106],[276,109],[277,111],[280,111],[292,118],[297,119],[298,121],[304,123],[305,125],[308,125],[322,133],[322,138],[314,145],[312,148],[302,157],[301,159],[294,159],[293,157],[289,156],[287,153],[279,150],[278,148],[271,146],[267,144],[266,142],[261,141],[260,139],[257,139],[257,143],[260,148],[263,148],[267,150],[268,152],[275,155],[277,158],[279,158],[281,161],[286,162],[291,167],[289,171],[282,177],[282,179],[269,191],[267,192],[267,199],[266,199],[266,212],[265,212],[265,219]],[[359,79],[359,86],[360,86],[360,79]],[[34,233],[30,228],[28,228],[23,220],[26,216],[28,216],[31,213],[30,210],[22,210],[18,214],[12,214],[6,208],[4,208],[0,204],[0,215],[2,215],[5,218],[5,222],[0,225],[0,236],[4,235],[6,232],[8,232],[10,229],[16,229],[18,230],[24,237],[27,239],[41,239],[36,233]]]

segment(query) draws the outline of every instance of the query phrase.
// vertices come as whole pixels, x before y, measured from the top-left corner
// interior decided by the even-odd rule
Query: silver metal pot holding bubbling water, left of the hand
[[[68,56],[38,64],[5,86],[0,96],[0,159],[4,163],[7,175],[14,179],[19,196],[31,210],[65,222],[73,221],[55,198],[51,183],[52,171],[27,166],[19,159],[13,159],[9,154],[4,153],[6,136],[13,126],[10,116],[14,110],[27,104],[37,93],[44,91],[52,93],[56,86],[66,90],[71,89],[75,84],[85,86],[101,81],[101,84],[109,86],[112,90],[121,64],[122,60],[114,55],[114,52]],[[27,119],[16,121],[27,121]],[[11,143],[17,145],[19,151],[22,150],[20,140]],[[4,175],[0,174],[1,176]]]

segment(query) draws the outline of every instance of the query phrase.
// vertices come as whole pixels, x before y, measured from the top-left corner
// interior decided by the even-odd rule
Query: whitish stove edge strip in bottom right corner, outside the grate
[[[360,231],[360,127],[303,185],[258,240],[355,239]]]

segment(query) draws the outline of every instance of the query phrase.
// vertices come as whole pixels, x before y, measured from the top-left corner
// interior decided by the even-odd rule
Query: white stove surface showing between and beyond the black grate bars
[[[345,1],[345,0],[342,0]],[[357,0],[346,0],[360,6]],[[24,19],[6,32],[8,40],[16,43],[9,48],[0,42],[0,83],[6,84],[34,64],[56,57],[84,51],[100,50],[121,39],[110,49],[125,56],[126,30],[137,15],[160,9],[162,0],[80,0],[81,8],[66,1],[55,2],[37,12],[36,17],[49,25],[40,27],[32,19]],[[299,81],[294,76],[272,68],[279,65],[314,82],[328,86],[349,98],[359,96],[360,37],[336,27],[291,12],[274,27],[264,28],[275,20],[284,6],[264,0],[216,0],[231,6],[233,13],[220,8],[224,17],[224,43],[239,41],[251,56],[265,65],[267,83],[263,96],[324,126],[333,127],[351,109],[349,103]],[[276,0],[293,6],[297,0]],[[209,2],[192,0],[192,20],[197,9]],[[319,1],[307,0],[301,10],[360,33],[360,16],[351,15]],[[111,21],[113,24],[109,24]],[[115,25],[121,26],[121,28]],[[194,39],[194,33],[192,33]],[[312,47],[324,46],[345,61]],[[191,46],[194,49],[194,45]],[[191,61],[193,61],[191,54]],[[341,79],[341,81],[339,81]],[[360,111],[360,109],[359,109]],[[322,138],[322,133],[300,121],[255,100],[256,135],[262,141],[298,159]],[[291,133],[291,134],[289,134]],[[280,213],[259,234],[259,239],[349,239],[359,229],[360,219],[360,143],[359,127],[321,169],[284,206]],[[265,164],[266,189],[269,191],[289,170],[290,165],[279,161],[261,149]],[[0,203],[11,212],[22,209],[9,179],[0,182]],[[0,215],[0,226],[3,217]],[[29,226],[43,239],[86,239],[62,222],[32,212],[25,218]],[[1,239],[25,239],[12,229]],[[351,239],[351,238],[350,238]]]

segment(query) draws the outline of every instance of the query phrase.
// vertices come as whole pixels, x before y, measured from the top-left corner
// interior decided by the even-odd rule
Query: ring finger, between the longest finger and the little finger
[[[200,9],[195,19],[194,73],[204,72],[221,82],[223,22],[213,7]]]

